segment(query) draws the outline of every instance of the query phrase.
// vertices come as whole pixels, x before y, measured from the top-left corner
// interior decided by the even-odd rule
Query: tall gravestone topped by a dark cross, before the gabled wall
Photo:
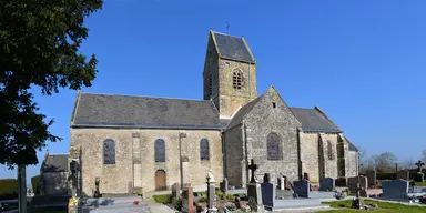
[[[252,171],[252,179],[250,180],[250,183],[247,183],[247,205],[252,209],[252,211],[262,211],[262,189],[261,184],[255,178],[255,171],[258,169],[258,166],[255,164],[253,159],[251,160],[251,164],[247,166],[247,169]]]

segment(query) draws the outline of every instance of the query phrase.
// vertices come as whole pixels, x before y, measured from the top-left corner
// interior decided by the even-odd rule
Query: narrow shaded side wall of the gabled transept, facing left
[[[246,171],[244,156],[244,146],[242,140],[241,125],[236,125],[224,132],[224,146],[225,146],[225,175],[229,185],[242,187],[242,180],[245,179]]]

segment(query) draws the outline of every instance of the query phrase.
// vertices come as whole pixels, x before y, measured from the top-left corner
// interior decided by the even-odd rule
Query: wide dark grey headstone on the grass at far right
[[[384,199],[397,199],[404,200],[408,193],[408,181],[405,180],[393,180],[382,182]]]

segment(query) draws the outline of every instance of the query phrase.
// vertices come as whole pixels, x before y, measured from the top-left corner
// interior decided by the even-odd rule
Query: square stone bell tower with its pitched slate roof
[[[210,31],[203,81],[204,100],[214,102],[220,119],[257,98],[256,60],[244,37]]]

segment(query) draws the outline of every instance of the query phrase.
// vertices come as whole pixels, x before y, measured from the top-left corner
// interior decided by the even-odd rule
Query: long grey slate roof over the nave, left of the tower
[[[71,126],[221,129],[212,101],[80,93]]]

